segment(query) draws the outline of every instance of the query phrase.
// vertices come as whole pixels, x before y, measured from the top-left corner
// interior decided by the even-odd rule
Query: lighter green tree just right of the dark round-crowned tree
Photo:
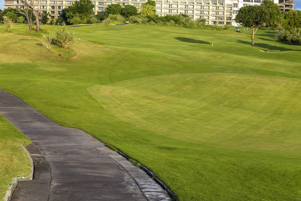
[[[266,27],[275,27],[281,18],[280,7],[271,0],[263,0],[261,7],[265,11]]]

